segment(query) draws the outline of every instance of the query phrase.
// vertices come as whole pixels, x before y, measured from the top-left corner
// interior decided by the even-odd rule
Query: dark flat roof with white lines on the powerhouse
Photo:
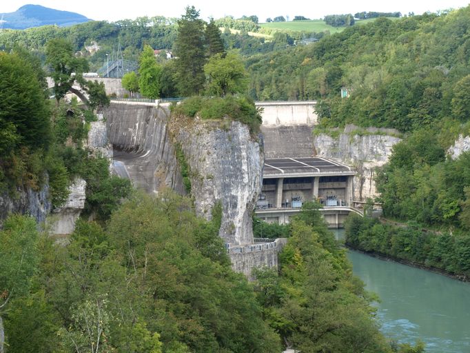
[[[356,170],[321,157],[265,159],[263,179],[354,175]]]

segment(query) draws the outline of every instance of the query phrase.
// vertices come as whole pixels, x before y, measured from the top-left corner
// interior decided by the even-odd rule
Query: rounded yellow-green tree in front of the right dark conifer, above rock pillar
[[[247,90],[245,66],[237,54],[215,54],[204,65],[207,76],[207,94],[225,97]]]

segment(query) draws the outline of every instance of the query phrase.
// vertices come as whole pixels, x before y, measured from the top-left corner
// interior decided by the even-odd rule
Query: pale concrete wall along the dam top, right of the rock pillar
[[[316,101],[256,102],[263,108],[263,126],[316,125]]]

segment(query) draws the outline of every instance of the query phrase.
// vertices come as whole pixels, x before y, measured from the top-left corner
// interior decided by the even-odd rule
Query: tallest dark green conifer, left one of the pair
[[[205,22],[199,19],[194,6],[187,7],[186,13],[178,20],[178,37],[174,42],[176,59],[176,82],[183,96],[201,92],[204,87]]]

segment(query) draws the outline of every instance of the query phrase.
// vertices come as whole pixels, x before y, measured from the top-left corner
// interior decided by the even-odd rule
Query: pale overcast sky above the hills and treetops
[[[28,0],[3,0],[0,5],[0,13],[14,12],[21,6],[31,3]],[[59,1],[41,0],[34,2],[48,8],[78,12],[90,19],[116,21],[119,19],[135,19],[141,16],[181,17],[184,9],[188,5],[194,5],[201,10],[201,18],[207,20],[209,17],[220,18],[225,15],[232,15],[236,18],[243,14],[256,14],[260,22],[264,22],[267,17],[289,16],[293,19],[296,15],[302,15],[310,19],[320,19],[326,14],[345,14],[362,11],[395,12],[402,14],[414,12],[422,14],[426,11],[436,12],[449,8],[462,8],[469,4],[464,0],[284,0],[284,1],[256,1],[256,0],[116,0],[112,1]]]

